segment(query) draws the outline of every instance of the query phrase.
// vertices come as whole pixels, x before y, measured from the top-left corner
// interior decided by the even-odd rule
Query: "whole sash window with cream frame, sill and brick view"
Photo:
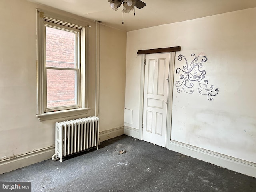
[[[39,120],[85,114],[86,26],[38,10]],[[82,24],[82,25],[81,25]],[[85,27],[82,27],[85,26]]]

